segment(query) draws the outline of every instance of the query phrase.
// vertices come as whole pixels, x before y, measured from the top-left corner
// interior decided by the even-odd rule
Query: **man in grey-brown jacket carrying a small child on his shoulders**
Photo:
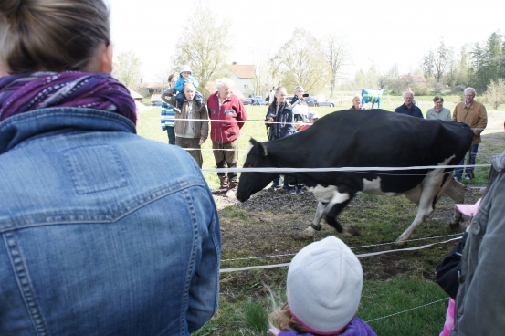
[[[198,109],[195,102],[195,86],[191,82],[184,83],[184,103],[180,113],[175,113],[175,144],[182,148],[188,148],[187,152],[195,159],[202,168],[201,145],[208,137],[208,113],[204,104]],[[167,89],[162,94],[162,99],[175,106],[174,88]],[[205,120],[205,121],[203,121]]]

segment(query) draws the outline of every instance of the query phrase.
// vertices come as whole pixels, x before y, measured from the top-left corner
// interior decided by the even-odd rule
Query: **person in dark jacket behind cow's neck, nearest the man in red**
[[[293,111],[289,109],[286,96],[288,91],[286,88],[279,87],[275,90],[275,96],[272,103],[268,106],[267,116],[265,118],[265,125],[267,126],[268,140],[276,140],[284,138],[296,132],[295,124],[293,121]],[[284,176],[284,186],[289,190],[288,181]],[[280,175],[276,177],[271,186],[272,190],[280,188]]]

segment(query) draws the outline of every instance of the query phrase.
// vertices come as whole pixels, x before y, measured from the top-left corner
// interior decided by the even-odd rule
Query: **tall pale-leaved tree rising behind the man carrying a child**
[[[205,98],[209,96],[205,90],[207,83],[229,71],[226,59],[231,51],[230,26],[224,20],[218,22],[217,17],[209,5],[196,5],[196,11],[190,11],[184,33],[175,45],[173,64],[177,72],[180,66],[188,64]]]

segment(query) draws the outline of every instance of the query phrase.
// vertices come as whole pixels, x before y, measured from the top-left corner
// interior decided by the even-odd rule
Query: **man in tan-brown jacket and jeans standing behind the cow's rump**
[[[479,149],[480,133],[484,131],[488,125],[488,113],[484,105],[479,103],[479,101],[473,100],[475,98],[475,89],[467,88],[465,89],[465,101],[460,102],[454,108],[452,113],[453,121],[465,122],[472,128],[474,132],[473,142],[471,145],[471,155],[469,158],[469,165],[475,164],[475,157],[477,156],[477,150]],[[468,154],[467,154],[468,155]],[[461,160],[458,165],[464,165],[465,158]],[[454,172],[454,178],[459,181],[463,175],[463,168],[456,168]],[[473,177],[473,168],[466,167],[465,170],[465,180],[471,182]]]

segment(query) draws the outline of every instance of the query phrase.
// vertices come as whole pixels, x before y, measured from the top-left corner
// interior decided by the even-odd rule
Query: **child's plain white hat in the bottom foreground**
[[[351,249],[336,236],[303,247],[288,270],[291,315],[320,334],[342,331],[358,310],[363,270]]]

